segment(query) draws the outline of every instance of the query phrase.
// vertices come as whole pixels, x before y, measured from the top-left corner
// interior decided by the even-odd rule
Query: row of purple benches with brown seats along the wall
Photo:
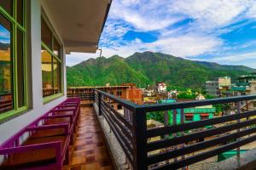
[[[5,157],[0,169],[61,169],[68,164],[79,102],[65,100],[0,145],[0,155]]]

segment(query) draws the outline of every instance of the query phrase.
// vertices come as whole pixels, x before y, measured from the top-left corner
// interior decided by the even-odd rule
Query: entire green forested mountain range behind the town
[[[174,88],[202,89],[207,80],[229,76],[233,79],[256,71],[242,65],[218,65],[193,61],[169,54],[135,53],[128,58],[114,55],[88,59],[79,65],[67,67],[67,86],[103,86],[134,82],[145,87],[155,82],[167,82]]]

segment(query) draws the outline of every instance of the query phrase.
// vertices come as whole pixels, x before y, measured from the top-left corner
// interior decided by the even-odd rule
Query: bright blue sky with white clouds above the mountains
[[[113,0],[99,48],[256,68],[256,0]],[[98,56],[72,53],[67,65]]]

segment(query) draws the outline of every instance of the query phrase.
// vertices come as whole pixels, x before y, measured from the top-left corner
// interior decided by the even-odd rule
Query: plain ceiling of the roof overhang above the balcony
[[[66,52],[96,53],[111,0],[44,0]]]

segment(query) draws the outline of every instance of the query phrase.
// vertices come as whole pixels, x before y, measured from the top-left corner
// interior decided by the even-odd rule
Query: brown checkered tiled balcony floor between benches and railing
[[[92,107],[82,107],[70,165],[63,170],[113,169],[101,128]]]

